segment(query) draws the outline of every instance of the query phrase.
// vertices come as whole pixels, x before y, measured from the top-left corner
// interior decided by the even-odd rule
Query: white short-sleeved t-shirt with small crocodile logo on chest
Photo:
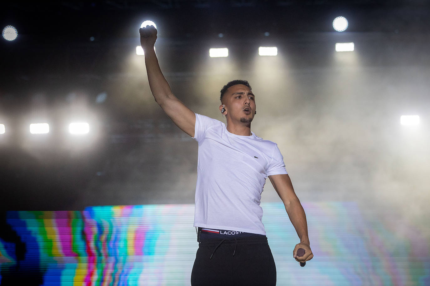
[[[230,133],[196,114],[199,142],[194,226],[265,235],[261,192],[267,176],[287,174],[276,143]]]

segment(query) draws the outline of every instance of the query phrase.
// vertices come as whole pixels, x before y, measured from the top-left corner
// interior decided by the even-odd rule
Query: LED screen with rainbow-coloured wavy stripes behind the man
[[[429,238],[418,227],[372,218],[355,203],[305,203],[315,259],[301,268],[283,204],[261,205],[278,285],[430,285]],[[2,284],[189,285],[193,216],[194,205],[10,211],[0,237]]]

